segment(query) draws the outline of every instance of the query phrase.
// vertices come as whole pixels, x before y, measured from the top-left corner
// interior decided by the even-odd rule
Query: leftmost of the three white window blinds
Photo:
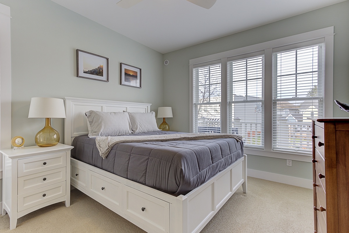
[[[193,132],[221,133],[221,63],[193,68]]]

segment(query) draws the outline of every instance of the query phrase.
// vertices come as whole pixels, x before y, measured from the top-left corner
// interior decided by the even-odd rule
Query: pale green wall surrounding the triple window
[[[164,54],[169,65],[164,67],[164,104],[172,106],[172,130],[189,131],[189,60],[235,48],[267,42],[299,33],[334,26],[334,99],[349,103],[349,1],[297,15],[258,28],[211,40]],[[226,22],[230,24],[238,22]],[[326,95],[326,94],[325,94]],[[348,117],[336,105],[335,117]],[[167,120],[166,120],[167,121]],[[312,179],[310,163],[294,162],[286,167],[284,159],[249,156],[248,168],[271,173]]]

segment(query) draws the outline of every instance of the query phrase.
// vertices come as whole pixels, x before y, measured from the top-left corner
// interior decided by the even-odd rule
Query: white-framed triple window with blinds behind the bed
[[[191,59],[192,132],[239,134],[249,155],[310,161],[307,118],[333,115],[333,30]]]

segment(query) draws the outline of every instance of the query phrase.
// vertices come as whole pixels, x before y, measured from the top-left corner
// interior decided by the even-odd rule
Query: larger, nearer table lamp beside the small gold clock
[[[35,135],[36,145],[57,145],[59,133],[51,127],[51,118],[66,118],[63,99],[31,98],[28,118],[46,118],[45,127]]]

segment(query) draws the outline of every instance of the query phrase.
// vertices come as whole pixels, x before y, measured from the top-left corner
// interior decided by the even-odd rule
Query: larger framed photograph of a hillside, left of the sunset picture
[[[77,49],[76,76],[109,82],[109,59]]]

